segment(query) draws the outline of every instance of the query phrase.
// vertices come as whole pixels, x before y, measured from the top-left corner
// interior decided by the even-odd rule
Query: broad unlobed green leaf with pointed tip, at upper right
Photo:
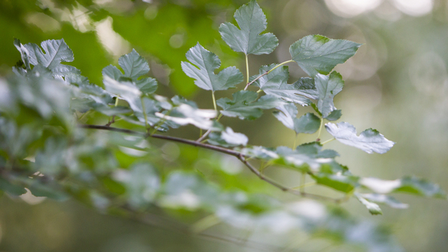
[[[361,44],[321,35],[309,35],[293,43],[289,52],[293,60],[314,77],[328,74],[337,65],[355,55]]]

